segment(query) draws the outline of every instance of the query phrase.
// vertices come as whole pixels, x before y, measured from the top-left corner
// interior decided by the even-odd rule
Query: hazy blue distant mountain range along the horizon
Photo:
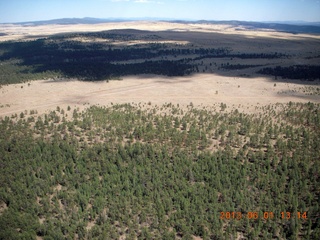
[[[288,32],[293,34],[311,33],[320,34],[320,22],[247,22],[247,21],[190,21],[190,20],[172,20],[172,19],[155,19],[155,18],[61,18],[46,21],[20,22],[20,25],[48,25],[48,24],[98,24],[108,22],[125,22],[125,21],[167,21],[176,23],[212,23],[226,24],[248,30],[275,30],[279,32]],[[241,29],[240,29],[241,27]]]

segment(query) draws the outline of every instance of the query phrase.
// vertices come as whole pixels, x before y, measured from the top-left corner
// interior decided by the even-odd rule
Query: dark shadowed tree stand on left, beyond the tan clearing
[[[202,59],[286,57],[281,53],[233,53],[227,47],[203,48],[190,44],[112,45],[116,41],[141,40],[135,31],[128,32],[65,34],[32,41],[0,43],[0,83],[54,77],[106,80],[145,73],[183,76],[198,72],[198,61]],[[81,41],[82,38],[94,40],[97,37],[110,42]],[[144,40],[159,38],[146,33],[143,36]],[[239,67],[235,66],[237,69]]]

